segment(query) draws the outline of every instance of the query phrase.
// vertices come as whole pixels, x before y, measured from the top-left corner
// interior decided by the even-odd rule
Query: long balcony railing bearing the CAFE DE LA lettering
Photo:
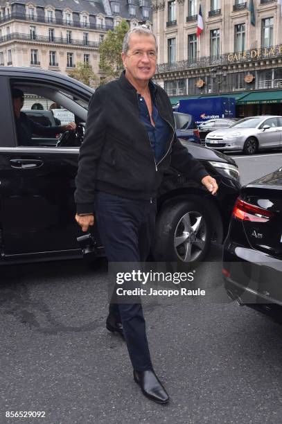
[[[186,69],[204,68],[243,62],[254,62],[256,60],[269,60],[270,58],[282,58],[282,46],[270,48],[254,48],[239,53],[225,53],[218,56],[203,56],[196,62],[181,60],[180,62],[162,63],[157,65],[157,73],[170,71],[185,71]]]

